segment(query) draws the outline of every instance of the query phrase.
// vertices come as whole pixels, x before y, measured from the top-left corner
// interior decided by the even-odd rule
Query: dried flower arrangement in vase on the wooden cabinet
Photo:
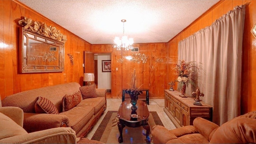
[[[185,60],[179,60],[175,66],[175,74],[178,76],[177,81],[181,86],[181,97],[185,96],[186,86],[188,84],[194,85],[195,79],[193,75],[193,70],[199,70],[194,62],[185,62]]]

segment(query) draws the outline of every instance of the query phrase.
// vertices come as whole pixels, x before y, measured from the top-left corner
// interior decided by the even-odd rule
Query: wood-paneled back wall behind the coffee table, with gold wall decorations
[[[164,97],[164,89],[168,88],[168,48],[166,43],[134,44],[139,47],[139,52],[116,50],[112,44],[92,45],[94,53],[111,53],[111,94],[113,97],[122,97],[122,88],[130,88],[131,74],[136,69],[137,87],[149,88],[150,97]],[[132,54],[145,54],[148,56],[146,63],[134,63],[127,60],[126,56]],[[124,61],[118,62],[122,58]],[[157,58],[163,62],[156,62]],[[100,82],[100,80],[98,80]]]

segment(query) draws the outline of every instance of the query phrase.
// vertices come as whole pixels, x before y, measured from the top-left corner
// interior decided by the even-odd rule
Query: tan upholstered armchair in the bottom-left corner
[[[76,138],[76,132],[70,127],[28,133],[22,128],[23,114],[18,107],[0,106],[0,144],[102,144],[96,140]]]

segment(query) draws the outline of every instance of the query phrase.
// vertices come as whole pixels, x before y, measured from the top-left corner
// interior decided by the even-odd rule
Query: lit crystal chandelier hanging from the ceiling
[[[125,19],[122,19],[121,22],[123,22],[123,36],[121,40],[119,37],[116,37],[114,40],[114,48],[116,50],[121,50],[121,48],[124,48],[124,50],[131,50],[133,49],[133,38],[127,38],[127,36],[124,36],[124,22],[126,22]]]

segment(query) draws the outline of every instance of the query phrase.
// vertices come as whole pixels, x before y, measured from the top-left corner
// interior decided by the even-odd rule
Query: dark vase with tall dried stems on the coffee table
[[[136,88],[136,70],[134,69],[134,71],[132,72],[132,81],[131,81],[131,85],[132,88],[126,89],[124,92],[126,94],[129,94],[130,98],[131,98],[131,104],[132,110],[137,110],[137,100],[138,100],[138,95],[142,94],[142,90],[140,90],[139,88]]]

